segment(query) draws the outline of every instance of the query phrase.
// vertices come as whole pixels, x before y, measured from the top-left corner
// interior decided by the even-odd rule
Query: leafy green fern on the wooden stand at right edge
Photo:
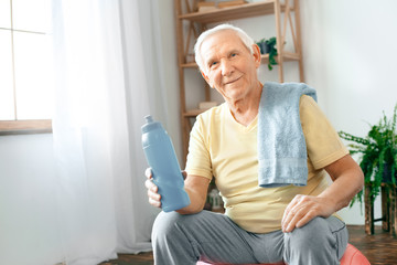
[[[383,113],[378,124],[371,126],[365,137],[357,137],[340,131],[341,138],[352,141],[351,153],[360,153],[360,167],[364,172],[365,186],[369,188],[369,199],[373,202],[379,194],[382,183],[396,184],[397,179],[397,105],[394,108],[391,119]],[[356,200],[363,203],[363,190],[352,200],[351,206]]]

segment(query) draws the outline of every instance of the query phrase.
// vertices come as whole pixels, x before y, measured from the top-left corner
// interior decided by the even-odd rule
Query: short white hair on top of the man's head
[[[240,28],[237,28],[235,25],[232,24],[219,24],[215,28],[212,28],[207,31],[204,31],[197,39],[196,43],[194,44],[194,54],[195,54],[195,61],[196,64],[198,65],[198,68],[201,71],[204,72],[204,63],[203,63],[203,57],[201,54],[201,45],[203,44],[203,42],[211,35],[219,32],[219,31],[224,31],[224,30],[232,30],[234,32],[236,32],[236,34],[239,36],[239,39],[242,39],[242,42],[244,43],[244,45],[248,49],[248,51],[253,54],[254,50],[253,50],[253,44],[255,43],[254,40],[245,32],[243,31]]]

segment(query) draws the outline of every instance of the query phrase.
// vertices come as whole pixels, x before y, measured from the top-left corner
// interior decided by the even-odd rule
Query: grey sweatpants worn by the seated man
[[[161,212],[152,232],[155,265],[194,265],[198,259],[334,265],[340,264],[347,239],[344,222],[334,216],[315,218],[291,233],[257,234],[240,229],[224,214],[208,211],[191,215]]]

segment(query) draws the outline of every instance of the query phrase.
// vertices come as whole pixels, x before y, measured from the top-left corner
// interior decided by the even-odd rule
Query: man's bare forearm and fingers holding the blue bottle
[[[185,172],[183,172],[185,176]],[[161,208],[161,195],[158,193],[159,188],[153,183],[151,170],[147,169],[144,173],[148,178],[146,187],[148,189],[149,203],[153,206]],[[189,174],[184,181],[184,189],[189,194],[191,204],[178,210],[181,214],[197,213],[204,209],[207,197],[210,180],[201,176]]]

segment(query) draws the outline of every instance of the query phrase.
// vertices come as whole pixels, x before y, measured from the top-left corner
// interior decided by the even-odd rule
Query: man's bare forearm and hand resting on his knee
[[[350,155],[325,167],[333,183],[318,197],[296,195],[287,206],[281,225],[283,232],[301,227],[315,216],[329,218],[348,205],[364,186],[364,174]]]

